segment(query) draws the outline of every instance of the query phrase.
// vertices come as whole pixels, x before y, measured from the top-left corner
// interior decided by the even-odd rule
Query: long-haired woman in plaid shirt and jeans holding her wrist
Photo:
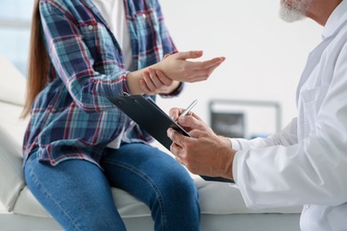
[[[149,206],[156,230],[198,230],[189,173],[107,97],[172,97],[224,58],[187,61],[202,52],[176,51],[157,0],[36,0],[31,35],[23,150],[37,200],[66,230],[125,230],[119,187]]]

